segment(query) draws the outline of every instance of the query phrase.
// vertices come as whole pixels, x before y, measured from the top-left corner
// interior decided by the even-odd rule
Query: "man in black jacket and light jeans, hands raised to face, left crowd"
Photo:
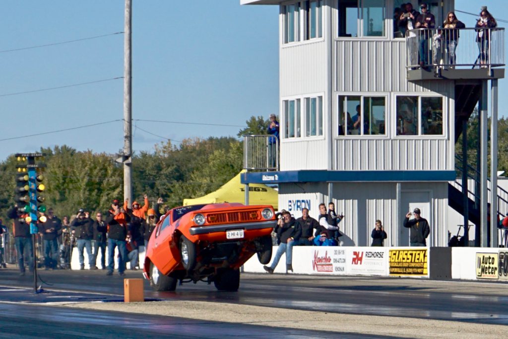
[[[85,257],[83,250],[86,248],[86,255],[88,256],[88,265],[90,269],[97,269],[92,255],[92,241],[93,230],[90,220],[90,213],[84,209],[80,209],[76,218],[71,223],[71,233],[76,238],[76,245],[79,252],[79,269],[85,269]]]

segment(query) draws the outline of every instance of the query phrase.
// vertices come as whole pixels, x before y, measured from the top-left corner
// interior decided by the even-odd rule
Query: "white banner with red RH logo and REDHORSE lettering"
[[[347,261],[347,274],[388,275],[388,249],[348,248]]]

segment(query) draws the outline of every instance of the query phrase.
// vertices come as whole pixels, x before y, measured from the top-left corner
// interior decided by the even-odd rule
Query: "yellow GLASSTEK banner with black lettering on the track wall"
[[[427,248],[390,250],[390,275],[428,275]]]

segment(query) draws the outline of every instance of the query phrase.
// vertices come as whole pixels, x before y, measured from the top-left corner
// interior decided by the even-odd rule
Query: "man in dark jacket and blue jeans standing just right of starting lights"
[[[49,208],[46,215],[46,222],[40,224],[39,232],[42,233],[42,243],[44,251],[45,269],[58,269],[59,251],[58,251],[58,232],[62,228],[62,223],[58,217],[53,214],[53,208]]]

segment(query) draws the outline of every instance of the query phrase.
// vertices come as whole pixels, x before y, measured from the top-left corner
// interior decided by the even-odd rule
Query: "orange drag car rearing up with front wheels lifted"
[[[257,254],[272,256],[273,207],[239,203],[173,208],[155,227],[146,248],[145,279],[156,291],[174,291],[178,282],[205,281],[237,291],[240,266]]]

